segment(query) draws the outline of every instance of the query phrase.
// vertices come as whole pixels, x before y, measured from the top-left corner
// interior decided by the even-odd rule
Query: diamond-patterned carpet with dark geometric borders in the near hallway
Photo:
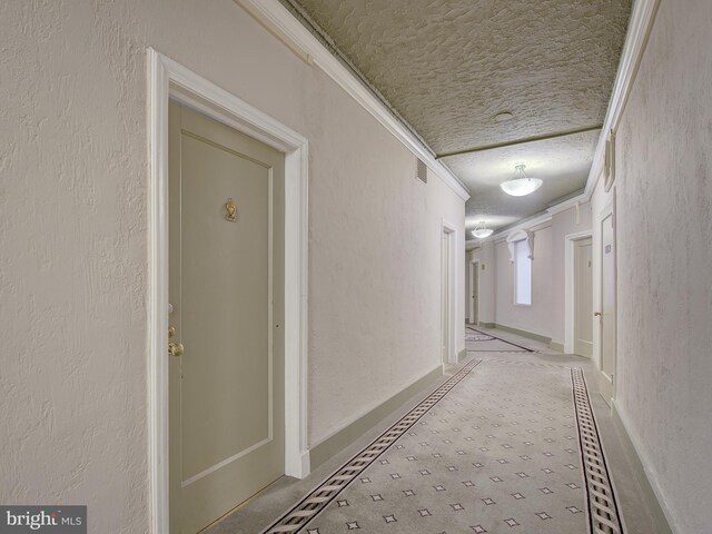
[[[472,360],[264,534],[623,533],[583,372]]]

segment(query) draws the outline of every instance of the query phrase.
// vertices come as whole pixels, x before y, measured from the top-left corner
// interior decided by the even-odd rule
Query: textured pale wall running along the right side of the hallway
[[[661,2],[616,136],[615,405],[685,534],[712,525],[711,26],[709,2]]]

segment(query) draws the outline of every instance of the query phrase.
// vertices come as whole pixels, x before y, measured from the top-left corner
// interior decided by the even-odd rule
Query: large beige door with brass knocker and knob
[[[169,109],[170,532],[284,474],[284,155]]]

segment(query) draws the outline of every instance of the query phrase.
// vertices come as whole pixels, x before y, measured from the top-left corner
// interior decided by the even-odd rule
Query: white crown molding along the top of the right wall
[[[603,174],[605,141],[611,131],[617,131],[627,98],[635,83],[643,53],[645,53],[645,47],[647,46],[647,39],[653,29],[659,7],[660,0],[635,0],[633,2],[631,20],[627,24],[627,33],[623,43],[621,62],[615,75],[609,109],[605,113],[601,136],[599,136],[593,164],[589,171],[589,179],[584,190],[586,199],[591,199],[591,195],[593,195],[593,190]]]

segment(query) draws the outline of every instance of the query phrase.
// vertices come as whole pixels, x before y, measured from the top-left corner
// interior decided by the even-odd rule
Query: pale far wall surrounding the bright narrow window
[[[532,261],[532,305],[514,304],[514,264],[505,240],[495,243],[496,323],[532,334],[551,337],[552,322],[552,227],[534,228]]]

